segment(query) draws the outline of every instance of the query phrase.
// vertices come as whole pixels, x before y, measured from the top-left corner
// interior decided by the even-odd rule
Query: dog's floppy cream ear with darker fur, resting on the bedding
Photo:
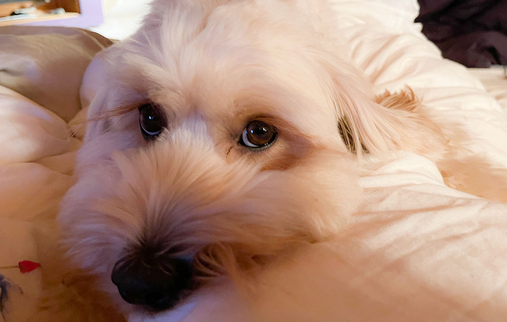
[[[391,150],[425,154],[443,133],[419,109],[410,88],[375,97],[363,75],[339,59],[328,62],[337,124],[347,148],[358,157]]]

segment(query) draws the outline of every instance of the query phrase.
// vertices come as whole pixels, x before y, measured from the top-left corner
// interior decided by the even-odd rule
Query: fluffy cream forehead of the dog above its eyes
[[[321,66],[308,55],[315,44],[265,10],[253,2],[170,8],[125,42],[114,69],[175,114],[278,114],[311,133],[325,129],[319,124],[334,111]]]

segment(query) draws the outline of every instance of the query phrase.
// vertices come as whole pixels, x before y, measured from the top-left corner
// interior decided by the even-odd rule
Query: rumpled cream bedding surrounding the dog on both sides
[[[507,80],[501,70],[469,70],[443,59],[421,34],[421,25],[413,23],[418,15],[413,0],[333,0],[333,4],[351,59],[378,92],[411,86],[444,120],[463,126],[473,138],[467,148],[499,167],[507,166]],[[26,32],[54,39],[56,31]],[[64,36],[63,31],[56,33]],[[61,56],[56,58],[78,50],[86,53],[79,57],[88,65],[93,54],[108,44],[98,35],[93,38],[100,45],[88,43],[88,34],[76,36],[75,46],[59,47]],[[7,86],[0,86],[0,322],[18,322],[37,309],[47,271],[53,269],[45,259],[55,247],[54,218],[59,199],[72,184],[74,156],[83,134],[82,126],[77,130],[73,126],[85,118],[101,58],[96,56],[86,71],[75,68],[81,64],[61,64],[53,86],[70,86],[65,93],[75,98],[76,105],[68,115],[67,110],[52,107],[61,106],[54,104],[59,96],[30,99],[14,86],[18,82],[2,83],[6,69],[2,66],[19,60],[12,53],[2,56],[9,54],[2,44],[0,84]],[[28,61],[37,61],[32,57],[35,51],[27,50],[37,43],[23,44]],[[53,73],[40,66],[34,64],[28,75]],[[69,80],[81,79],[83,73],[83,81],[71,85],[76,82]],[[51,92],[43,80],[31,78],[30,87]],[[74,135],[70,127],[76,130]],[[403,152],[393,153],[388,161],[368,160],[360,184],[365,205],[343,232],[270,265],[258,276],[250,304],[222,280],[173,311],[133,315],[129,321],[504,320],[507,204],[446,187],[433,163]],[[42,267],[28,273],[2,268],[23,260]]]

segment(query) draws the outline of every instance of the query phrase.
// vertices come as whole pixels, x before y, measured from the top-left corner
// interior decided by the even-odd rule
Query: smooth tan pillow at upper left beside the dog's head
[[[0,85],[69,121],[81,109],[81,78],[95,53],[112,42],[77,28],[0,28]],[[35,84],[35,86],[34,86]]]

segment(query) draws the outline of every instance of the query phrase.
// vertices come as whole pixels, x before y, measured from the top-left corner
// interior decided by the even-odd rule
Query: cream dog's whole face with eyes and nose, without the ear
[[[71,259],[126,309],[328,238],[360,199],[337,126],[350,98],[299,9],[176,3],[103,54],[59,214]]]

